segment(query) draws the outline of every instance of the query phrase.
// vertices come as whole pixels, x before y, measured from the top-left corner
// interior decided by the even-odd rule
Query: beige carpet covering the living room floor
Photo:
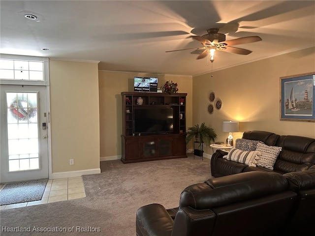
[[[16,232],[15,236],[79,236],[84,235],[82,230],[90,231],[85,233],[89,236],[134,236],[139,207],[151,203],[178,207],[185,187],[211,177],[210,161],[192,155],[131,164],[106,161],[101,162],[101,170],[101,174],[83,176],[86,198],[1,210],[0,229],[31,227],[31,232]],[[36,233],[34,227],[62,232]],[[2,230],[1,236],[5,235],[12,233]]]

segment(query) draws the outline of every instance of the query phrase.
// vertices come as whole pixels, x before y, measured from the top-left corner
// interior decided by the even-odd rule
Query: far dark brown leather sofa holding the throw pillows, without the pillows
[[[213,177],[228,176],[249,171],[277,172],[280,174],[305,171],[315,165],[315,139],[278,135],[266,131],[245,131],[243,139],[261,141],[268,146],[282,147],[274,169],[264,167],[250,167],[242,163],[222,158],[225,151],[217,150],[211,157],[211,175]]]

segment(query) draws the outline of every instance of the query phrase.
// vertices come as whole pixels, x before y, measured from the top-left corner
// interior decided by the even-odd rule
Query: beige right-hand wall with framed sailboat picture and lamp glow
[[[241,57],[241,56],[240,56]],[[216,63],[216,61],[214,61]],[[240,121],[241,138],[246,130],[264,130],[280,135],[315,138],[315,122],[280,120],[280,77],[315,71],[315,48],[227,68],[193,77],[193,123],[205,122],[225,141],[222,121]],[[221,110],[207,113],[208,95],[214,91],[222,100]],[[313,98],[314,99],[314,98]],[[205,152],[212,154],[210,148]]]

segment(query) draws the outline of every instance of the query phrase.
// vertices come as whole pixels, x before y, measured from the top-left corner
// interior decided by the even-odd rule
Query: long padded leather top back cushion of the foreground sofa
[[[240,173],[190,185],[181,194],[180,207],[211,209],[273,195],[286,189],[287,181],[279,173]]]

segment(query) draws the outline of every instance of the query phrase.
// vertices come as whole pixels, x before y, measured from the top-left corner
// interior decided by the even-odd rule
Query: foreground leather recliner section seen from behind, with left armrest
[[[173,219],[151,204],[136,213],[137,236],[272,236],[284,232],[297,193],[279,173],[248,172],[187,187]]]

